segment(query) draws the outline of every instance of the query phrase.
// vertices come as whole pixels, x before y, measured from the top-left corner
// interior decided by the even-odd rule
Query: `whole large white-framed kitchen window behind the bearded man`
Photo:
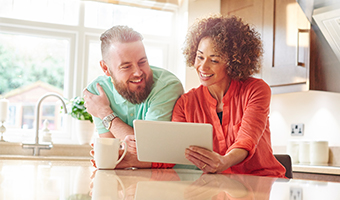
[[[83,88],[103,75],[99,37],[113,25],[142,33],[150,65],[173,71],[168,57],[176,10],[80,0],[0,1],[0,97],[10,101],[5,140],[34,141],[42,95],[82,96]],[[54,143],[77,143],[74,119],[61,112],[59,99],[44,99],[39,114],[39,129],[48,120]]]

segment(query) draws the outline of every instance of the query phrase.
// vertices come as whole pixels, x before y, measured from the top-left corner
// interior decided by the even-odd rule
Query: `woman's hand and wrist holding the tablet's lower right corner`
[[[224,156],[205,148],[190,146],[185,157],[205,173],[221,173],[242,162],[248,155],[244,149],[233,149]]]

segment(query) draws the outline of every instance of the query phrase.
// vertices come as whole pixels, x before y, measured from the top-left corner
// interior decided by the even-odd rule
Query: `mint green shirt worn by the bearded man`
[[[172,109],[184,92],[183,86],[171,72],[158,67],[150,67],[153,71],[154,84],[148,98],[141,104],[132,104],[124,99],[113,86],[109,76],[98,77],[87,86],[87,90],[99,95],[96,87],[99,83],[109,98],[113,112],[131,127],[135,119],[170,121]],[[94,117],[94,122],[99,134],[108,132],[100,118]]]

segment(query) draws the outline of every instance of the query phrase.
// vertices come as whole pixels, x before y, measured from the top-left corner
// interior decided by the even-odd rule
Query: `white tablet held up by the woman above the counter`
[[[213,150],[211,124],[134,120],[139,161],[193,165],[185,158],[191,145]]]

